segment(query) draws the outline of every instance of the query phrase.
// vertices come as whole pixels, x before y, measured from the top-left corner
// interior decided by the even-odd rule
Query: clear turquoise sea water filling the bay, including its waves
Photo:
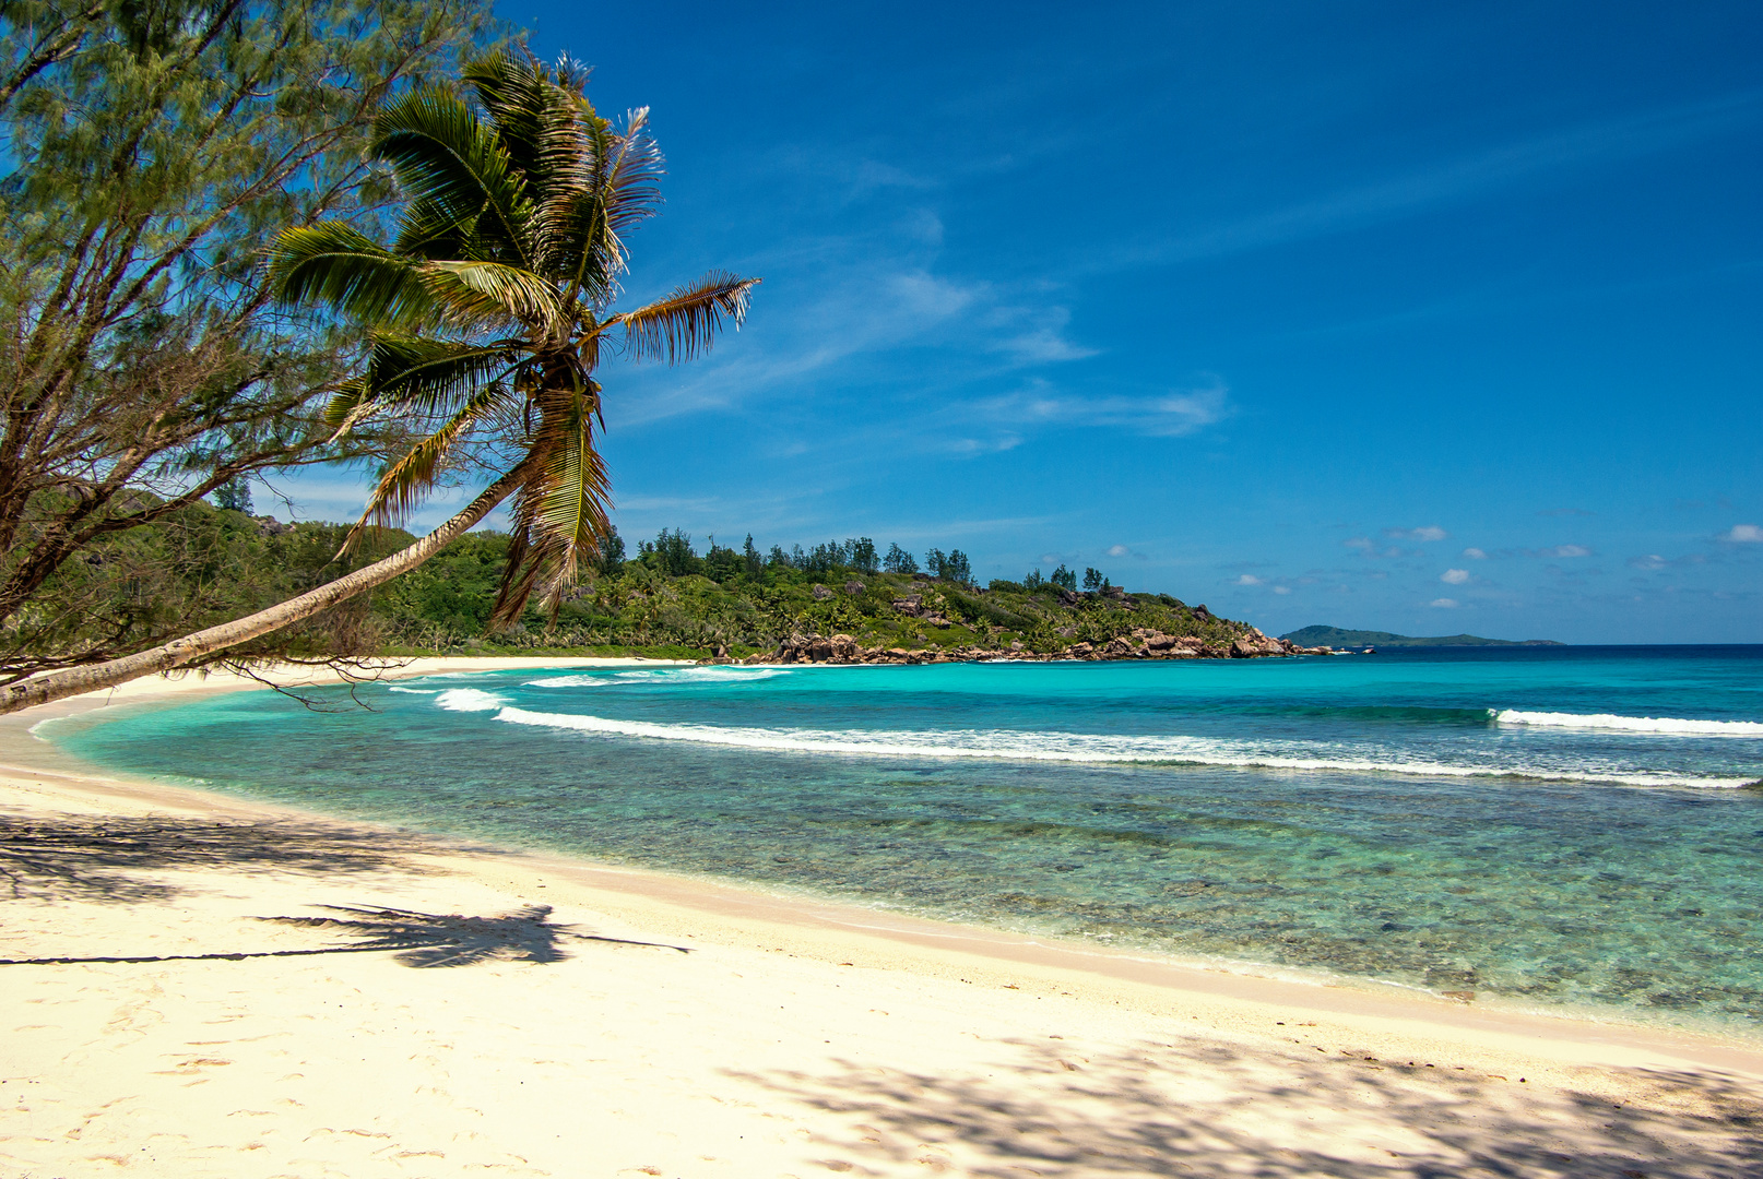
[[[44,735],[504,844],[1763,1031],[1763,791],[1744,788],[1763,647],[520,671],[360,696]]]

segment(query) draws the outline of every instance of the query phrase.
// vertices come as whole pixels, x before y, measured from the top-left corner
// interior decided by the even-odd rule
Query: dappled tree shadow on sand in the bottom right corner
[[[1756,1093],[1650,1071],[1647,1107],[1518,1079],[1231,1045],[1088,1057],[1015,1042],[1008,1068],[739,1073],[853,1130],[846,1174],[1756,1179]],[[1269,1068],[1271,1064],[1271,1068]]]

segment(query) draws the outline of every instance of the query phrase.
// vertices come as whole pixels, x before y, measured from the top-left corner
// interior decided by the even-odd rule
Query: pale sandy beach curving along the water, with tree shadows
[[[236,687],[0,719],[0,1174],[1763,1170],[1742,1043],[338,823],[28,735]]]

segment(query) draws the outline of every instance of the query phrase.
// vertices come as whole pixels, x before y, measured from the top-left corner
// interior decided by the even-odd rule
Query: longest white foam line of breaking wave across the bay
[[[1749,779],[1692,777],[1677,774],[1633,774],[1625,770],[1566,770],[1513,765],[1444,765],[1430,761],[1373,760],[1352,754],[1292,756],[1255,749],[1241,742],[1204,737],[1111,737],[1100,733],[1024,733],[1017,730],[887,731],[887,730],[767,730],[710,724],[656,724],[614,721],[573,712],[502,708],[508,724],[684,740],[740,749],[777,749],[871,758],[986,758],[1000,761],[1079,763],[1176,763],[1271,770],[1345,770],[1366,774],[1412,774],[1423,777],[1530,777],[1564,782],[1620,786],[1745,786]]]

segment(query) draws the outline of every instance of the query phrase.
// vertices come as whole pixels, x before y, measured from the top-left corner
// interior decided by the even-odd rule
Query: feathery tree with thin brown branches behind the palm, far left
[[[393,213],[374,118],[490,9],[0,4],[0,684],[261,604],[148,553],[254,472],[390,442],[316,428],[361,333],[277,305],[263,245]]]

